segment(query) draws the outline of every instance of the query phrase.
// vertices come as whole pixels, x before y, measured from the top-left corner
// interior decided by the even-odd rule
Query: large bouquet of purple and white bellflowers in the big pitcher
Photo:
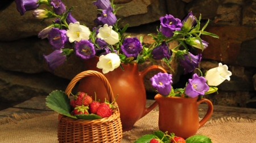
[[[189,49],[204,50],[208,47],[208,42],[201,40],[200,36],[203,34],[218,38],[216,34],[204,31],[209,20],[201,28],[201,16],[197,19],[192,12],[182,21],[170,14],[161,17],[159,28],[156,29],[157,34],[148,34],[154,42],[147,46],[143,45],[142,37],[130,37],[125,34],[129,24],[121,28],[119,19],[115,16],[121,7],[116,7],[113,0],[97,0],[92,3],[99,11],[94,20],[95,27],[92,29],[71,15],[72,10],[76,10],[75,7],[66,9],[61,0],[15,0],[15,3],[20,15],[34,10],[33,15],[37,19],[53,19],[53,23],[38,34],[42,39],[48,38],[54,50],[51,54],[44,55],[52,72],[75,54],[82,60],[100,57],[97,68],[102,69],[103,73],[118,67],[125,70],[121,63],[143,63],[148,59],[153,63],[155,60],[163,60],[171,68],[171,60],[176,56],[180,59],[181,66],[184,66],[185,73],[188,73],[192,72],[195,64],[201,60],[201,54],[193,55],[189,53]],[[38,9],[40,5],[47,5],[52,10]],[[174,40],[177,40],[179,45],[170,49],[169,43]],[[72,48],[65,48],[68,44],[72,44]],[[181,46],[183,50],[180,50]]]

